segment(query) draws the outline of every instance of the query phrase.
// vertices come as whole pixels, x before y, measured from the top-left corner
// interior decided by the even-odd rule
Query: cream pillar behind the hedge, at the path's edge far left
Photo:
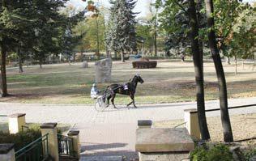
[[[19,133],[26,125],[26,114],[15,113],[8,116],[9,133]]]

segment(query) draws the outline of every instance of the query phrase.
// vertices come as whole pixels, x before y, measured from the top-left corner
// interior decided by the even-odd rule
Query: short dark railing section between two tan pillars
[[[58,134],[58,154],[60,156],[75,157],[73,138]]]

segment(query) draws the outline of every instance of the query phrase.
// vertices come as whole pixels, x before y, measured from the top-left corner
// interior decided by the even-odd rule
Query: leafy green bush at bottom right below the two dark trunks
[[[231,161],[233,154],[229,151],[228,146],[217,144],[210,148],[198,146],[192,151],[191,160],[193,161]]]

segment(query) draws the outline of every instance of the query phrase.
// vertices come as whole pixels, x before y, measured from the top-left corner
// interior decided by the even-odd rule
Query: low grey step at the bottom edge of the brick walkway
[[[125,161],[123,156],[81,156],[79,161]]]

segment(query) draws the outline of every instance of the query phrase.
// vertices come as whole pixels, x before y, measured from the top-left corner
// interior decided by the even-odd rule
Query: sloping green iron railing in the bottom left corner
[[[15,152],[16,161],[45,161],[49,159],[48,133]]]

